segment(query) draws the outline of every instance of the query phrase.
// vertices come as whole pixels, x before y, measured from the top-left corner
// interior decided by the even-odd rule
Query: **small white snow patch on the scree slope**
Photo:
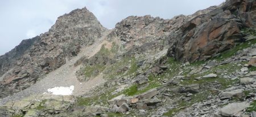
[[[48,89],[47,91],[54,95],[69,96],[73,93],[74,88],[75,88],[75,86],[73,86],[73,85],[71,85],[69,87],[60,86],[60,87],[54,87],[54,88]]]

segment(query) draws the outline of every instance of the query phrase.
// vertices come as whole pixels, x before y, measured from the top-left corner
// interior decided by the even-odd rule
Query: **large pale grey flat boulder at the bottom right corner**
[[[219,114],[222,116],[233,116],[249,106],[250,103],[247,102],[229,103],[228,105],[222,107],[222,109],[219,111]]]

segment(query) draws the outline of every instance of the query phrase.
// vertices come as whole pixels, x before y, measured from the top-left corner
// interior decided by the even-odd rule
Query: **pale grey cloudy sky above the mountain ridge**
[[[88,8],[106,28],[130,15],[171,19],[190,15],[225,0],[7,0],[0,2],[0,55],[20,41],[47,32],[58,16]]]

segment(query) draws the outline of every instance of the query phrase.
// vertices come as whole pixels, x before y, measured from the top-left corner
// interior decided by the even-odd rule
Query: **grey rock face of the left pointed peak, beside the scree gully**
[[[76,56],[82,46],[90,45],[106,29],[86,10],[77,9],[60,16],[48,32],[0,57],[0,98],[26,89],[40,77]]]

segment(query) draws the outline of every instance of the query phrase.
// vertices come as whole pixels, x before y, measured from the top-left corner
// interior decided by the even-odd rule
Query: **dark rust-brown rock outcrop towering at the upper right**
[[[240,29],[255,27],[255,1],[226,1],[207,14],[194,16],[179,28],[176,45],[169,49],[181,61],[195,62],[213,57],[241,41]],[[173,50],[173,51],[171,51]]]

